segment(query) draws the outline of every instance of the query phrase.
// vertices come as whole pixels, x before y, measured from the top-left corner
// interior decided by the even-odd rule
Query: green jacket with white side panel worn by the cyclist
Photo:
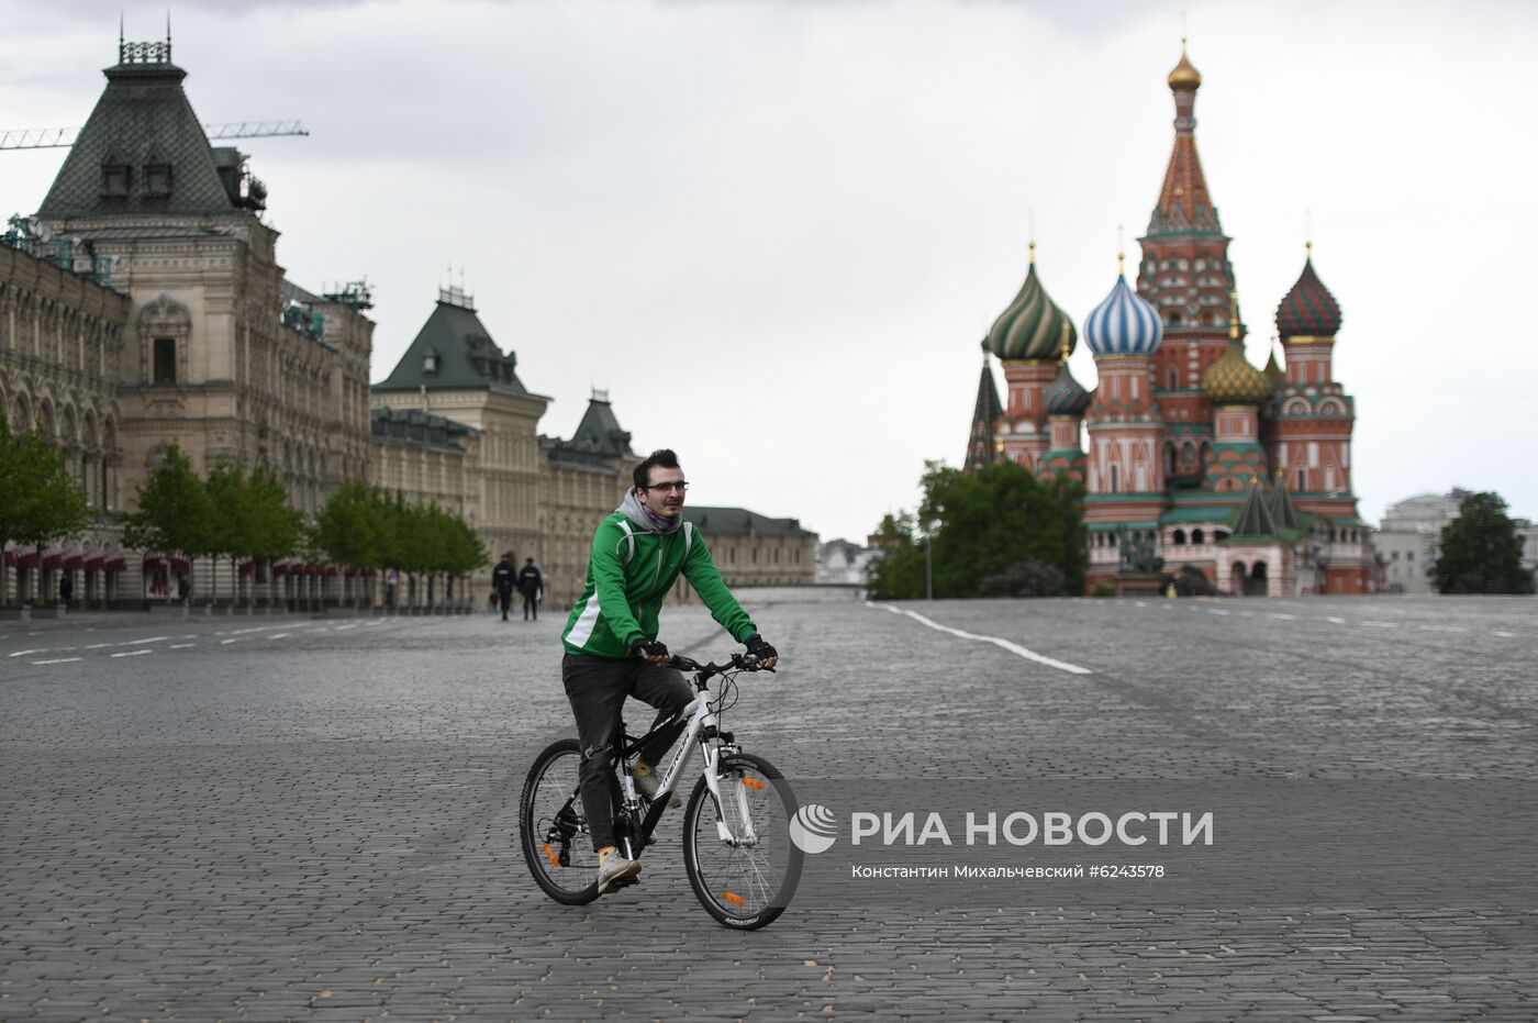
[[[568,654],[621,660],[631,655],[635,640],[655,640],[657,612],[680,574],[734,640],[741,643],[758,632],[721,580],[694,523],[657,532],[637,526],[626,514],[629,506],[638,509],[634,491],[592,535],[588,581],[561,632]]]

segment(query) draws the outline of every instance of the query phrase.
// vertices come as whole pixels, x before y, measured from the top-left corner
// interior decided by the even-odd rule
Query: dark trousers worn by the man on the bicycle
[[[620,751],[620,709],[626,697],[657,708],[657,728],[666,718],[683,714],[694,703],[694,686],[684,681],[675,668],[660,668],[643,660],[609,660],[586,654],[566,654],[561,658],[561,681],[566,698],[577,717],[577,740],[581,745],[581,805],[588,814],[588,831],[592,848],[614,845],[614,805],[611,801],[611,775],[614,758]],[[667,749],[689,725],[687,718],[669,725],[641,746],[641,760],[661,763]]]

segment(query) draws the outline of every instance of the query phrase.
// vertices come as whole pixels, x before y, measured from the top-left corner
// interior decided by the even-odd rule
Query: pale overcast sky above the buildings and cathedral
[[[0,0],[0,128],[80,126],[165,3]],[[1538,5],[251,3],[172,6],[205,122],[248,140],[289,277],[375,285],[374,378],[463,268],[569,435],[591,388],[691,500],[824,540],[960,465],[978,340],[1026,272],[1080,325],[1147,225],[1181,20],[1197,143],[1257,365],[1303,265],[1344,309],[1355,488],[1453,485],[1538,518],[1523,269]],[[34,212],[63,149],[0,152]],[[455,283],[458,282],[455,269]],[[1516,312],[1507,306],[1516,303]],[[1516,317],[1512,322],[1510,317]],[[1087,386],[1094,360],[1072,369]],[[1518,438],[1523,438],[1518,446]]]

